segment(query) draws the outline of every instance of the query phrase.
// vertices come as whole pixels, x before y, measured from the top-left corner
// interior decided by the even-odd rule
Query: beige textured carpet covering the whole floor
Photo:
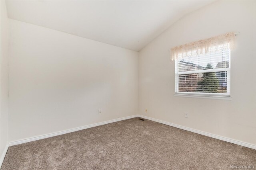
[[[253,165],[256,150],[138,118],[8,149],[1,170],[207,170]]]

